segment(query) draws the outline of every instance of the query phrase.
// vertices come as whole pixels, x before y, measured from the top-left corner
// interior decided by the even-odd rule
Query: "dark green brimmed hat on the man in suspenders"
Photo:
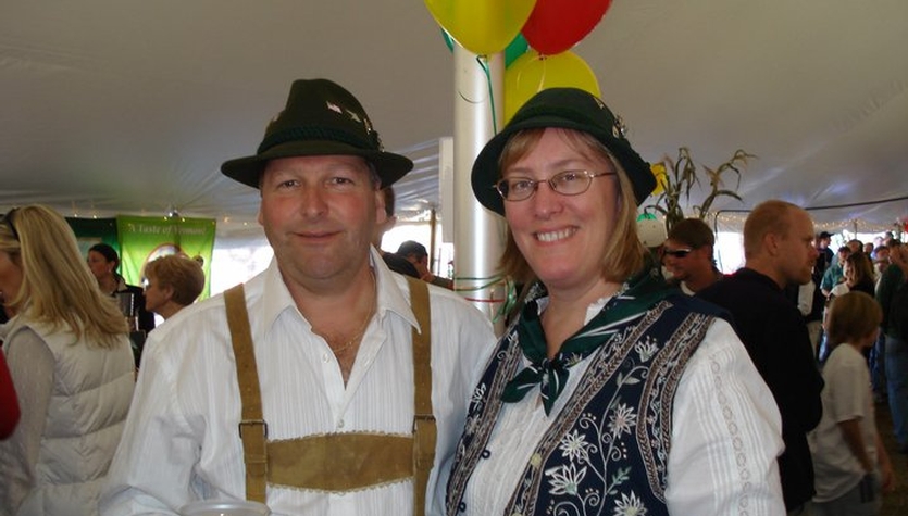
[[[259,188],[265,164],[278,158],[358,155],[387,187],[413,168],[410,159],[385,152],[378,133],[349,91],[327,79],[294,81],[287,105],[265,128],[254,155],[221,165],[225,176]]]

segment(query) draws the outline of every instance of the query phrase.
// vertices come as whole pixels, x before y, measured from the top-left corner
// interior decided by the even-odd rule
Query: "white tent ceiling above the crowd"
[[[419,0],[0,0],[0,209],[219,219],[257,231],[254,190],[220,164],[251,153],[295,78],[357,95],[416,169],[401,209],[437,205],[452,131],[451,56]],[[614,0],[573,51],[649,161],[738,148],[747,209],[908,217],[908,2]]]

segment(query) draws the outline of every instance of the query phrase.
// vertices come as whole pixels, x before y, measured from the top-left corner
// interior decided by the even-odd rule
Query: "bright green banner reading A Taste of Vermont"
[[[183,253],[203,260],[204,290],[211,288],[211,255],[214,251],[214,219],[185,217],[116,217],[120,240],[120,274],[129,285],[142,285],[145,265],[160,256]]]

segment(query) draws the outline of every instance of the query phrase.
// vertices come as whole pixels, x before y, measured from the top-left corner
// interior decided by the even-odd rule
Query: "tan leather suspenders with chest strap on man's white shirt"
[[[246,498],[265,502],[265,484],[350,491],[413,477],[413,514],[425,514],[428,475],[435,461],[432,413],[432,336],[428,289],[408,277],[410,306],[422,331],[413,328],[413,435],[329,433],[268,441],[246,297],[242,285],[224,292],[242,405],[239,437],[246,462]]]

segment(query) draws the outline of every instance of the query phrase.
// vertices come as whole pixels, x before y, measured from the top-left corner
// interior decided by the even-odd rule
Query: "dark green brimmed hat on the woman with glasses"
[[[505,201],[495,189],[500,179],[498,161],[508,140],[523,129],[559,127],[593,135],[618,159],[634,187],[637,205],[656,188],[649,163],[631,147],[621,119],[598,97],[579,88],[549,88],[539,91],[514,113],[501,133],[495,135],[476,156],[471,181],[480,204],[505,214]]]

